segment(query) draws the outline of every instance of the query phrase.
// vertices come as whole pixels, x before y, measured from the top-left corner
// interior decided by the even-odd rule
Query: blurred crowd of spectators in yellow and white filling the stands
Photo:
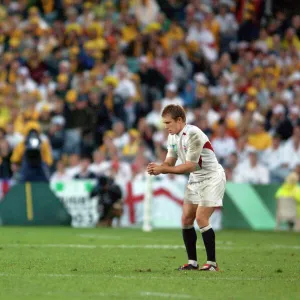
[[[0,178],[32,126],[52,178],[130,180],[164,159],[172,103],[228,180],[300,174],[300,15],[266,2],[1,0]]]

